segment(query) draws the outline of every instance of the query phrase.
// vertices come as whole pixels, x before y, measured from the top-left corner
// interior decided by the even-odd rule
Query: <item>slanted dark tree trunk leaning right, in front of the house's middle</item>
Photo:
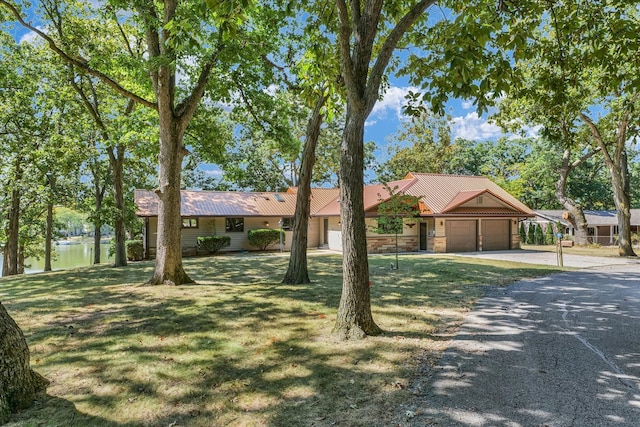
[[[311,212],[311,177],[313,165],[316,162],[316,146],[320,137],[322,125],[321,110],[327,97],[322,94],[316,102],[311,113],[302,150],[300,162],[300,177],[298,194],[296,195],[296,213],[293,221],[293,241],[291,242],[291,254],[289,255],[289,267],[284,275],[282,283],[310,283],[307,268],[307,242],[309,214]]]

